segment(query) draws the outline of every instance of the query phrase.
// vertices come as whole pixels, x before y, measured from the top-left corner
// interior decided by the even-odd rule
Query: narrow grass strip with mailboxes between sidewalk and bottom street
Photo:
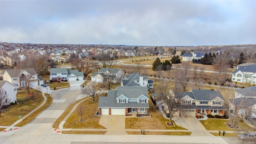
[[[191,132],[152,132],[146,131],[144,134],[141,134],[141,131],[126,131],[130,135],[169,135],[169,136],[190,136]],[[142,131],[143,133],[143,131]]]

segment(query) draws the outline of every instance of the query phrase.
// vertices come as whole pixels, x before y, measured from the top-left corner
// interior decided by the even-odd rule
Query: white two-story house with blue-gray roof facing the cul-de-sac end
[[[78,70],[68,70],[68,68],[50,68],[50,80],[84,80],[84,73]]]

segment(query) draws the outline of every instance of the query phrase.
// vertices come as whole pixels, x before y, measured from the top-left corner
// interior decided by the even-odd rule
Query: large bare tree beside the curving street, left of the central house
[[[88,82],[86,84],[86,86],[84,86],[84,88],[81,88],[82,90],[82,94],[86,94],[90,97],[93,98],[93,102],[95,102],[95,97],[96,96],[99,96],[100,94],[102,94],[104,92],[104,90],[102,90],[101,88],[98,88],[97,86],[97,82],[95,81],[91,81],[91,82]]]

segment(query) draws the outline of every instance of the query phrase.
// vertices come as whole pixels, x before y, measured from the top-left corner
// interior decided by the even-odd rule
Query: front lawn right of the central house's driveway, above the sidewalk
[[[148,100],[150,107],[154,107],[152,100]],[[150,129],[150,130],[187,130],[175,124],[175,126],[166,126],[165,122],[169,122],[160,110],[149,110],[151,117],[144,118],[125,118],[125,129]]]

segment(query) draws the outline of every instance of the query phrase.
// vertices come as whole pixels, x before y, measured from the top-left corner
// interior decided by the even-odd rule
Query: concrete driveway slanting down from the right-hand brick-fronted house
[[[190,136],[213,136],[195,116],[173,116],[172,120],[179,126],[191,130]]]

